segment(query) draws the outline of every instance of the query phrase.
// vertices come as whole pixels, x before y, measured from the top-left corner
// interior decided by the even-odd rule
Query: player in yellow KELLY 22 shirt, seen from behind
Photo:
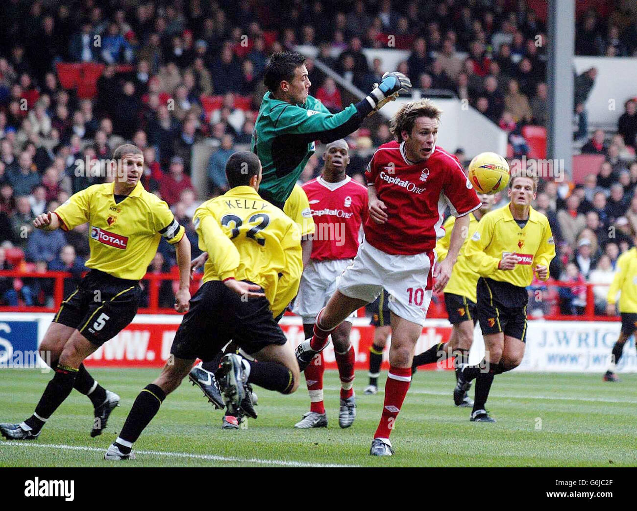
[[[224,356],[218,381],[227,408],[240,408],[248,382],[282,394],[299,385],[294,350],[273,315],[287,306],[299,287],[303,271],[299,228],[257,194],[261,183],[257,155],[233,154],[225,175],[231,189],[204,202],[193,218],[199,247],[209,254],[204,283],[175,334],[171,360],[137,396],[104,459],[134,458],[132,444],[164,398],[189,374],[197,358],[210,361],[230,340],[259,362],[237,354]]]

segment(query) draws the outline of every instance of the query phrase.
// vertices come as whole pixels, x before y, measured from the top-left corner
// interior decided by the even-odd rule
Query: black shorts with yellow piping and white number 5
[[[140,296],[138,280],[90,270],[62,302],[54,321],[77,329],[91,343],[101,346],[132,321]]]

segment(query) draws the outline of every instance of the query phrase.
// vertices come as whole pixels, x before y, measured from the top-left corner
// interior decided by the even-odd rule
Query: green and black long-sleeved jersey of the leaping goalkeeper
[[[361,126],[369,112],[371,106],[365,99],[343,112],[330,113],[312,96],[304,104],[291,104],[266,92],[250,145],[263,167],[262,198],[282,208],[316,150],[315,141],[329,143],[347,136]]]

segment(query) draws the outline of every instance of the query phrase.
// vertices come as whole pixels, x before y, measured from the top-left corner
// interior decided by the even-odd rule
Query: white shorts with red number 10
[[[336,289],[350,298],[372,302],[384,287],[389,293],[390,311],[424,325],[431,302],[435,263],[434,250],[415,255],[392,255],[363,241]]]

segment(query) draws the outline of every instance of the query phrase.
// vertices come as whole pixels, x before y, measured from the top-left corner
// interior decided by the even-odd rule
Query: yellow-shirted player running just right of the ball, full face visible
[[[480,275],[476,303],[485,344],[485,359],[477,366],[462,366],[454,390],[455,399],[477,378],[471,421],[495,422],[485,410],[494,375],[520,365],[526,342],[526,287],[533,272],[548,280],[548,265],[555,257],[548,219],[531,207],[537,187],[535,177],[512,176],[510,203],[484,215],[464,248],[469,268]]]

